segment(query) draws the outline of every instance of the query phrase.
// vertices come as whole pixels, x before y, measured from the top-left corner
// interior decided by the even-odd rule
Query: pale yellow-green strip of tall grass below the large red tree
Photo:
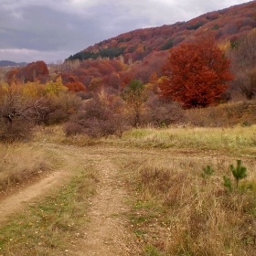
[[[173,127],[133,129],[123,133],[123,140],[139,147],[197,148],[248,152],[256,155],[256,125],[233,128]]]

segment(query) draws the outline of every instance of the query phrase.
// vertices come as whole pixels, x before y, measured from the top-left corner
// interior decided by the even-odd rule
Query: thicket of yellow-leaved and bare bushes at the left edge
[[[68,121],[81,104],[60,79],[46,84],[2,84],[0,91],[0,141],[5,143],[29,139],[37,125]]]

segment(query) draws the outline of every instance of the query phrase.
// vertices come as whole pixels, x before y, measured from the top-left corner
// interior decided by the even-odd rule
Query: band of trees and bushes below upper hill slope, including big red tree
[[[201,37],[141,63],[87,59],[48,72],[43,61],[12,69],[1,83],[0,140],[25,139],[35,125],[65,123],[67,135],[122,136],[132,127],[184,121],[183,109],[256,97],[256,29],[237,44]],[[69,63],[69,70],[65,71]]]

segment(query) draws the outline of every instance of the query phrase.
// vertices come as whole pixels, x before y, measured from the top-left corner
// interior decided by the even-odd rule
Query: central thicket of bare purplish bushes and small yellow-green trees
[[[119,96],[106,90],[95,93],[64,125],[64,132],[68,136],[82,133],[91,137],[121,137],[133,127],[165,127],[181,117],[178,104],[150,95],[142,82],[133,80]]]

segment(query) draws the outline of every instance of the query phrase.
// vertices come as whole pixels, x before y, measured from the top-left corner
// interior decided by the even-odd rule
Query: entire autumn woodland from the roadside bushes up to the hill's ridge
[[[254,99],[255,7],[138,29],[63,64],[10,69],[0,87],[0,140],[54,123],[65,123],[67,135],[122,136],[131,127],[183,122],[186,109]]]

